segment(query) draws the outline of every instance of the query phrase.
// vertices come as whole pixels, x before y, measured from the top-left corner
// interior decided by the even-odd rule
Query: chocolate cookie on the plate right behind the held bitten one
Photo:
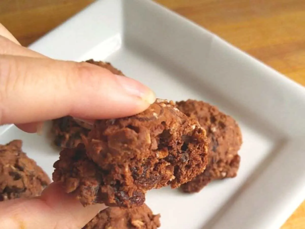
[[[238,151],[242,145],[242,133],[237,122],[217,107],[202,101],[187,100],[176,104],[185,115],[198,120],[210,140],[206,170],[183,184],[181,189],[188,193],[199,192],[211,180],[235,177],[240,162]]]

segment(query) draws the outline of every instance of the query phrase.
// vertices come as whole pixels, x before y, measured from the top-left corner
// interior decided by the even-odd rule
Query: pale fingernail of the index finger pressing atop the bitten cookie
[[[155,93],[142,83],[128,78],[126,76],[115,75],[117,82],[122,88],[130,95],[140,97],[142,100],[149,104],[153,104],[156,100]]]

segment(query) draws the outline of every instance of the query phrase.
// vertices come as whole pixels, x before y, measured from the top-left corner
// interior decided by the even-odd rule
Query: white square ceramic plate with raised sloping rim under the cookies
[[[205,100],[232,115],[244,143],[234,179],[198,194],[162,188],[146,203],[165,229],[275,229],[305,197],[305,90],[221,38],[148,0],[100,0],[31,49],[62,60],[110,61],[160,98]],[[45,136],[2,127],[49,176]]]

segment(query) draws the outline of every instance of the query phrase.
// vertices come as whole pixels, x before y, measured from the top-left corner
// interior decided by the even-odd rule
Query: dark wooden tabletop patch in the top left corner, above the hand
[[[94,0],[0,0],[0,23],[27,46],[92,2]]]

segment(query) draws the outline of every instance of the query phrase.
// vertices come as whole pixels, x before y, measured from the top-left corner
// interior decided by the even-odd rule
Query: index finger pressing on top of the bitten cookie
[[[117,118],[154,100],[148,87],[93,64],[0,55],[0,124]]]

